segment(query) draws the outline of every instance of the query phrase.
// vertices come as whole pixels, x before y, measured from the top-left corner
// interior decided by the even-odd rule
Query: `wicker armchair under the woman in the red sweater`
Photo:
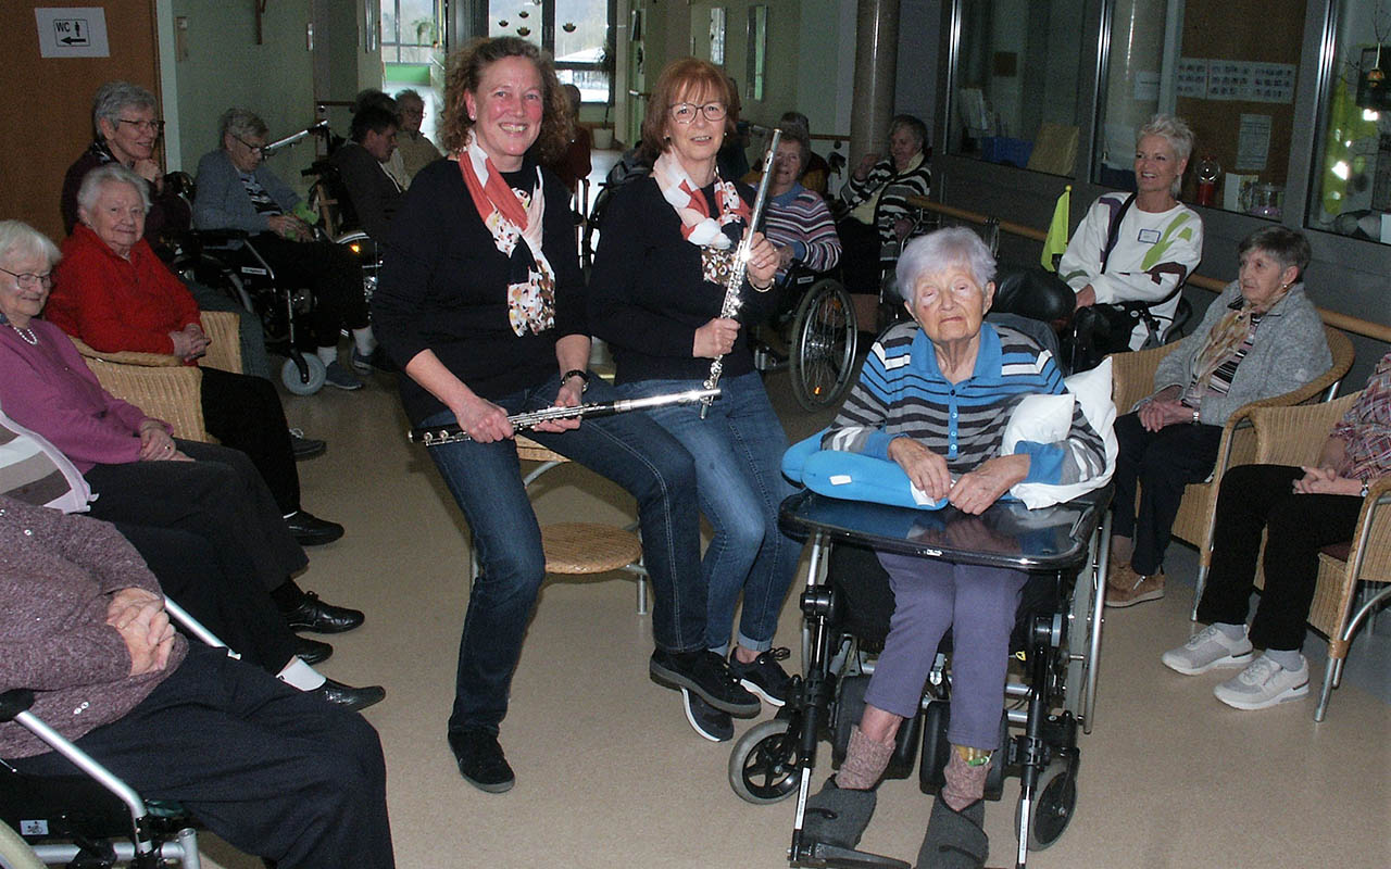
[[[203,311],[203,331],[213,342],[207,346],[202,364],[241,373],[238,321],[234,311]],[[72,343],[107,392],[164,420],[174,427],[175,437],[214,441],[203,424],[203,373],[196,366],[185,366],[178,357],[163,353],[102,353],[77,338],[72,338]]]

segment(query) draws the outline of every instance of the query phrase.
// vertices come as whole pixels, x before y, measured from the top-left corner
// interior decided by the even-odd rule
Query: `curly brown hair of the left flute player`
[[[570,103],[555,78],[555,64],[551,56],[536,44],[516,36],[495,36],[470,39],[463,47],[449,56],[449,71],[444,79],[444,117],[440,122],[440,145],[447,152],[463,147],[473,129],[469,108],[463,95],[477,95],[484,71],[505,57],[524,57],[536,65],[541,75],[541,92],[545,110],[541,114],[541,133],[531,146],[542,161],[555,160],[565,153],[574,133],[570,121]]]

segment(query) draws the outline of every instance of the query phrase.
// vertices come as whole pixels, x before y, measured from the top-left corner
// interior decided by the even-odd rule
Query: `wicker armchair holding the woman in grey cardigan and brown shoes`
[[[1178,506],[1178,516],[1174,517],[1173,534],[1198,548],[1198,588],[1193,592],[1192,619],[1198,619],[1198,601],[1203,596],[1207,569],[1212,566],[1213,524],[1216,523],[1217,488],[1221,485],[1221,476],[1228,467],[1249,464],[1256,457],[1256,435],[1251,430],[1248,419],[1251,412],[1256,407],[1331,399],[1337,393],[1342,377],[1352,367],[1352,342],[1333,327],[1323,328],[1328,338],[1328,349],[1333,352],[1333,367],[1292,392],[1238,407],[1223,427],[1221,442],[1217,446],[1217,464],[1212,478],[1206,482],[1189,484],[1184,489],[1184,501]],[[1129,413],[1135,402],[1155,391],[1155,371],[1159,368],[1159,360],[1171,353],[1175,346],[1178,345],[1168,343],[1152,350],[1111,355],[1111,395],[1116,399],[1117,413]]]

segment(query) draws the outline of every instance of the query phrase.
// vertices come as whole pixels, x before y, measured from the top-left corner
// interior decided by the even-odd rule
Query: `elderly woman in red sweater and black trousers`
[[[45,317],[104,353],[168,353],[193,366],[209,338],[192,293],[143,239],[149,206],[145,179],[124,165],[88,172]],[[300,545],[342,537],[342,526],[300,507],[285,410],[270,381],[204,366],[202,400],[209,434],[250,457]]]

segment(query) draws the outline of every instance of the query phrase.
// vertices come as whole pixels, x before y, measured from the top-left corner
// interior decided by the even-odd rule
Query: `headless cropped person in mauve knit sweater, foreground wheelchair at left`
[[[0,692],[32,690],[35,715],[143,797],[287,869],[394,865],[371,726],[191,647],[115,528],[0,498]],[[77,772],[17,723],[0,724],[0,758]]]

